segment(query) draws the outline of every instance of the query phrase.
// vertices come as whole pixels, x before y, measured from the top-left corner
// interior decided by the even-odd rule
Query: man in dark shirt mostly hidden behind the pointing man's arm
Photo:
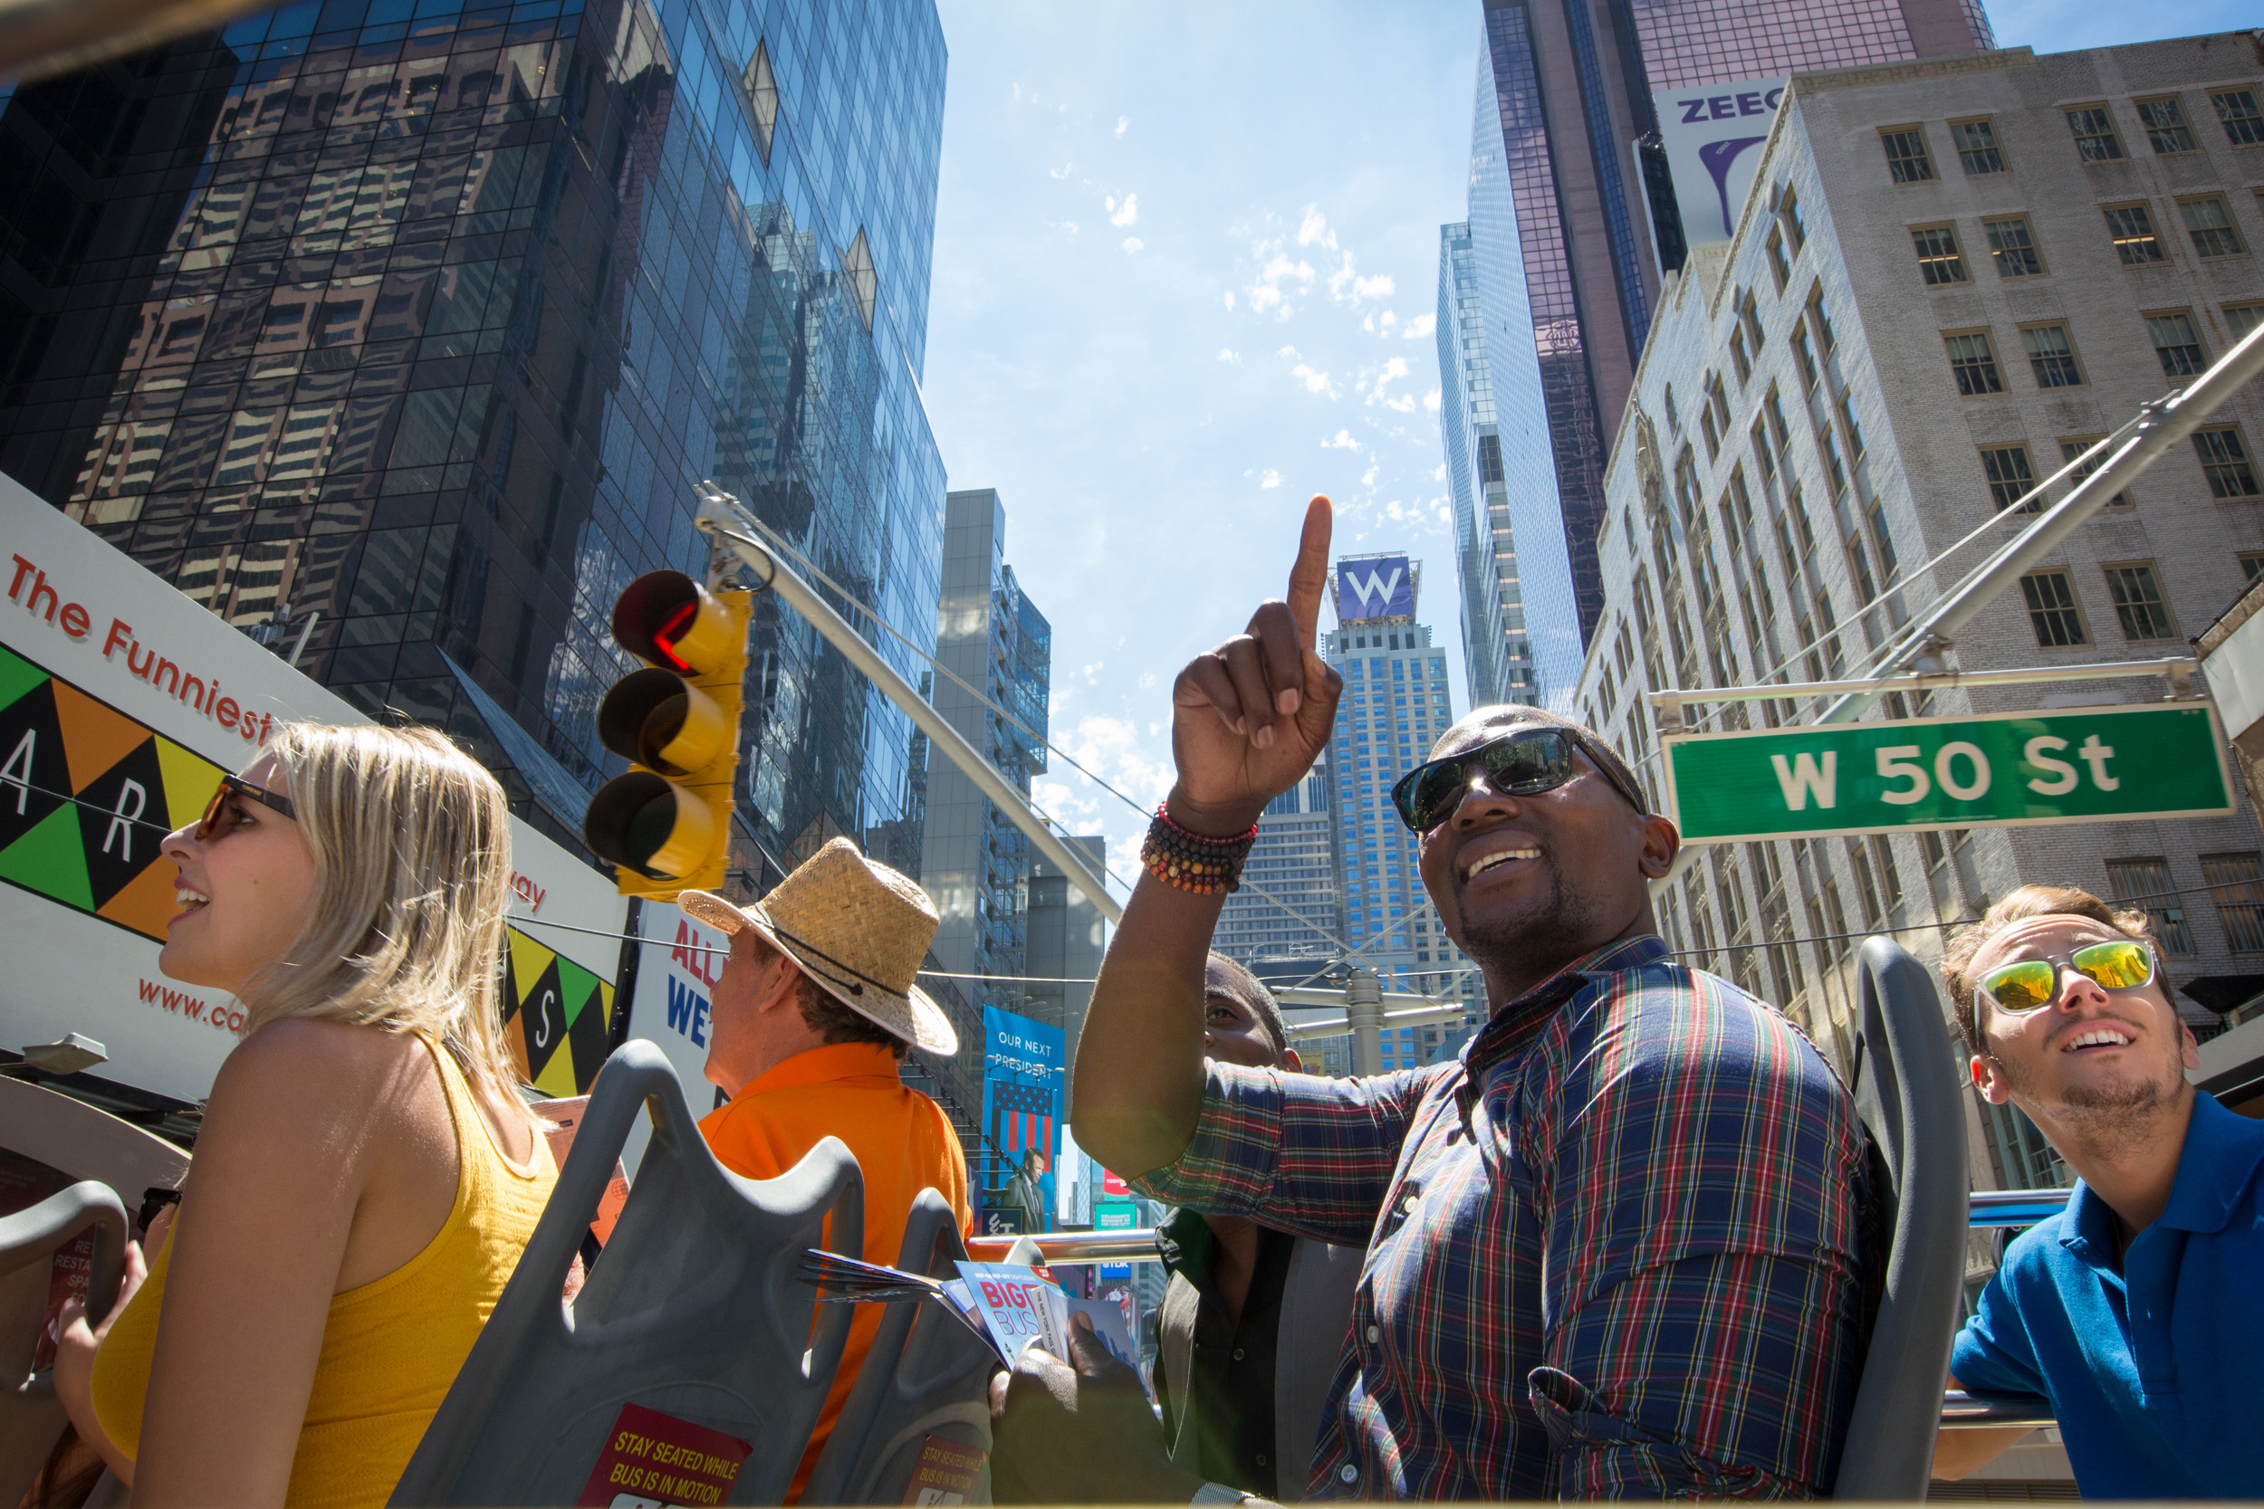
[[[1304,1070],[1272,993],[1216,952],[1202,971],[1202,1052]],[[1157,1249],[1170,1287],[1155,1391],[1173,1461],[1245,1493],[1302,1498],[1361,1253],[1195,1210],[1166,1222]]]

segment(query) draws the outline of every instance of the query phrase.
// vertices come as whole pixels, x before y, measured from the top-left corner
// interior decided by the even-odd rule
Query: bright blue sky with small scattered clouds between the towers
[[[1424,563],[1417,618],[1465,710],[1433,321],[1476,0],[940,9],[924,394],[951,486],[998,489],[1005,559],[1053,622],[1053,742],[1152,810],[1173,676],[1284,593],[1313,493],[1336,554]],[[2239,0],[1988,11],[2038,52],[2255,20]],[[1143,812],[1060,758],[1032,794],[1137,873]]]

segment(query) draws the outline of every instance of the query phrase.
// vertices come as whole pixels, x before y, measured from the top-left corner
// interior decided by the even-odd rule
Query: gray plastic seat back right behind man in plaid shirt
[[[1834,1498],[1920,1500],[1965,1287],[1965,1102],[1933,975],[1884,937],[1859,959],[1852,1088],[1895,1235]]]

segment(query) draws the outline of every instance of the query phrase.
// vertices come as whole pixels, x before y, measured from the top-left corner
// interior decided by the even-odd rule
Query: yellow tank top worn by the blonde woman
[[[532,1163],[512,1163],[455,1059],[435,1047],[432,1061],[455,1122],[455,1206],[421,1253],[385,1278],[331,1296],[288,1504],[383,1504],[392,1498],[557,1183],[543,1138],[534,1138]],[[129,1457],[140,1455],[143,1396],[170,1258],[168,1235],[149,1281],[95,1353],[95,1416]]]

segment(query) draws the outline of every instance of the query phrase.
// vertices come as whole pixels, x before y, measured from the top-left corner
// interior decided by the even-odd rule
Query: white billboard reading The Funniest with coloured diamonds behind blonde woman
[[[5,475],[0,584],[0,1047],[79,1032],[106,1052],[91,1075],[204,1100],[245,1016],[156,966],[177,912],[158,842],[276,724],[369,719]],[[620,943],[564,928],[618,934],[625,903],[518,821],[512,871],[505,1034],[532,1084],[577,1095]]]

